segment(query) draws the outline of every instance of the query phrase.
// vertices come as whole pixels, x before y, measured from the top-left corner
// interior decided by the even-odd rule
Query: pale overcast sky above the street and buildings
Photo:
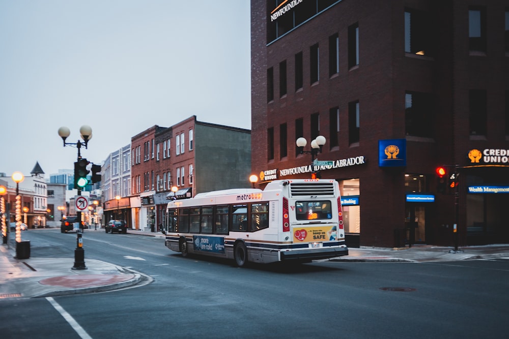
[[[248,0],[0,0],[0,172],[101,163],[196,115],[251,128]]]

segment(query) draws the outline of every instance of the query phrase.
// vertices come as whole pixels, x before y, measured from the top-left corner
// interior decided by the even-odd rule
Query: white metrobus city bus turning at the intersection
[[[336,180],[275,180],[265,189],[197,194],[168,203],[165,245],[188,254],[310,262],[348,255]]]

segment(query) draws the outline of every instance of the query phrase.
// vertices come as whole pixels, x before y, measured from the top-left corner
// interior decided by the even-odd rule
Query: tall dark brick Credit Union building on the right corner
[[[338,180],[350,246],[509,241],[509,1],[251,0],[251,65],[262,186]]]

